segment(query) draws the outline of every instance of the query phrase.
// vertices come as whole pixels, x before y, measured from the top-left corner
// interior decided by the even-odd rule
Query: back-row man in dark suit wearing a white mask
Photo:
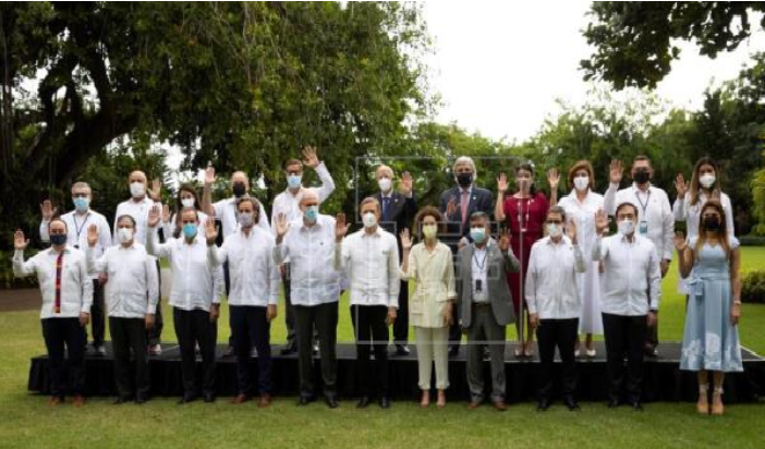
[[[375,178],[379,192],[374,197],[380,202],[382,208],[382,218],[380,226],[386,231],[396,235],[396,241],[399,245],[399,263],[401,263],[401,231],[410,229],[412,220],[417,214],[417,203],[414,199],[412,191],[412,175],[404,171],[401,174],[401,184],[399,192],[393,190],[393,169],[388,166],[379,166],[375,170]],[[399,311],[393,324],[393,343],[396,344],[397,355],[409,354],[409,282],[401,281],[401,290],[399,291]]]

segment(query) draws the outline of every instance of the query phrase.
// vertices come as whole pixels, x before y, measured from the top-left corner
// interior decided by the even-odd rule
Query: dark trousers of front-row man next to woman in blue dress
[[[643,385],[643,345],[646,316],[603,314],[606,337],[606,362],[611,399],[620,399],[624,385],[624,355],[627,355],[627,395],[629,400],[640,400]]]

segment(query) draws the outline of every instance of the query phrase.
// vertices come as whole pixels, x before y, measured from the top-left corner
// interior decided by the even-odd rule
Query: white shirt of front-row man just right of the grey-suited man
[[[568,236],[558,243],[546,236],[532,246],[526,272],[525,295],[529,312],[539,319],[571,319],[582,314],[576,274],[586,265],[579,245]]]

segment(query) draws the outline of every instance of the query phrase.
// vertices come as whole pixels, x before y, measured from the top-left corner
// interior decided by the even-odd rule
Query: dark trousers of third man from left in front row
[[[202,392],[215,393],[215,340],[212,339],[212,323],[209,312],[203,310],[172,310],[175,336],[181,348],[181,372],[183,374],[183,393],[195,396],[196,354],[195,347],[199,344],[202,355]]]

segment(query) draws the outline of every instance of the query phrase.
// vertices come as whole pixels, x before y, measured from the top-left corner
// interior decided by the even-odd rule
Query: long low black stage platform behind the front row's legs
[[[279,354],[281,347],[274,345],[274,354]],[[695,401],[697,387],[694,373],[679,369],[680,343],[667,342],[659,347],[658,357],[646,357],[644,400],[646,401]],[[416,348],[411,347],[412,354],[403,357],[391,356],[390,390],[396,398],[416,398],[417,360]],[[579,359],[579,399],[605,400],[607,393],[607,373],[605,347],[596,343],[597,356]],[[151,392],[154,396],[181,395],[181,363],[178,347],[165,344],[160,356],[151,356]],[[236,392],[236,372],[233,357],[222,357],[226,348],[218,347],[217,390],[219,396],[233,396]],[[513,355],[514,344],[508,342],[506,353],[507,396],[511,402],[533,400],[536,391],[538,359],[518,360]],[[725,393],[728,402],[749,402],[765,397],[765,359],[744,349],[744,372],[726,377]],[[465,379],[465,347],[460,354],[450,360],[449,379],[451,398],[467,399],[469,390]],[[298,357],[294,354],[275,355],[274,384],[277,396],[295,396],[299,387]],[[257,363],[257,359],[252,360]],[[47,356],[32,359],[28,389],[39,393],[48,392]],[[316,385],[320,386],[320,373],[317,365]],[[490,386],[488,362],[486,364],[486,386]],[[87,396],[113,396],[116,386],[112,374],[113,360],[111,348],[107,347],[107,356],[88,356],[86,362]],[[556,364],[556,368],[559,365]],[[338,389],[342,397],[354,397],[355,390],[355,347],[338,344]]]

